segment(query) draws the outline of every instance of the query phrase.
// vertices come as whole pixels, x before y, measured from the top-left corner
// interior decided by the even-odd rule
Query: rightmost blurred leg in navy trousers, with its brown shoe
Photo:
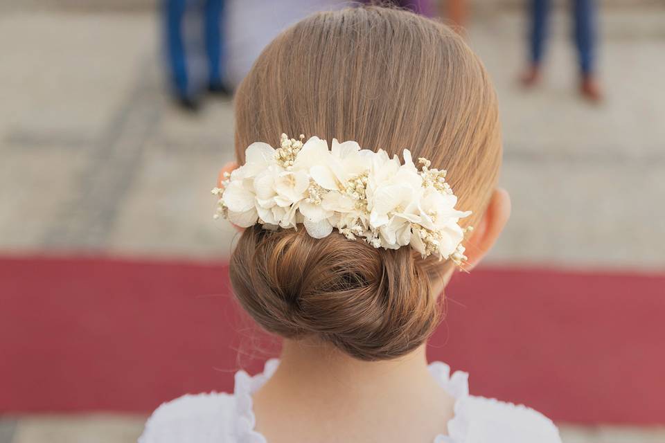
[[[580,64],[580,91],[586,98],[600,100],[601,90],[594,75],[596,46],[596,1],[573,0],[574,37]]]

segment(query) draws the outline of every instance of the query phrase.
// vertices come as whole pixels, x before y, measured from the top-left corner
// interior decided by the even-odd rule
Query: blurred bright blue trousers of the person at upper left
[[[224,0],[163,0],[162,12],[169,77],[175,92],[181,97],[192,97],[200,89],[200,82],[192,81],[185,51],[183,26],[185,15],[189,13],[202,15],[202,46],[205,46],[208,65],[207,80],[209,84],[221,84]]]

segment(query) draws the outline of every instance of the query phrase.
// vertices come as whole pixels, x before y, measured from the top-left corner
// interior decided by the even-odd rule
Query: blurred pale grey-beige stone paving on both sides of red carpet
[[[493,11],[470,28],[502,100],[502,184],[513,219],[490,256],[537,266],[665,267],[665,10],[603,16],[608,99],[574,90],[566,17],[547,82],[524,93],[522,21]],[[229,102],[199,116],[163,96],[154,17],[0,15],[0,251],[223,257],[209,188],[231,157]],[[143,417],[0,419],[0,443],[130,442]],[[567,443],[662,442],[665,431],[566,426]]]

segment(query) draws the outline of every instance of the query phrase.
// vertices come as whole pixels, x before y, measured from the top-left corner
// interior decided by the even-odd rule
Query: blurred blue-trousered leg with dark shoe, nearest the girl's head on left
[[[208,88],[211,92],[228,93],[224,87],[224,0],[207,0],[205,6],[205,40],[208,58]]]

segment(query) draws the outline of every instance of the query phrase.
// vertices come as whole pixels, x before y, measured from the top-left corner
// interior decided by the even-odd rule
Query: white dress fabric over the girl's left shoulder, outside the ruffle
[[[154,410],[139,443],[229,441],[234,410],[228,394],[183,395]]]

